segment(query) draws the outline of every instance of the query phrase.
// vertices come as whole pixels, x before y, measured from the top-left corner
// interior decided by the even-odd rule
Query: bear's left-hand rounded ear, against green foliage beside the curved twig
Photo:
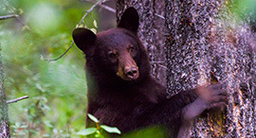
[[[73,30],[73,40],[85,55],[92,54],[93,44],[97,38],[91,30],[79,27]]]

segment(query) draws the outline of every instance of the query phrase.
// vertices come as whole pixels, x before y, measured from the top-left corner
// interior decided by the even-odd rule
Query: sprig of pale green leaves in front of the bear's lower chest
[[[96,124],[96,128],[87,128],[87,129],[82,129],[79,132],[77,132],[78,135],[91,135],[94,134],[94,137],[96,138],[104,138],[104,136],[101,133],[101,129],[104,129],[105,131],[109,132],[109,133],[117,133],[117,134],[121,134],[120,130],[116,127],[108,127],[105,125],[99,125],[99,120],[93,116],[92,114],[88,113],[88,117],[95,122]]]

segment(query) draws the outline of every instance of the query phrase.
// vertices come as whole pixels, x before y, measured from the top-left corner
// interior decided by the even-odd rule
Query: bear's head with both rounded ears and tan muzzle
[[[137,10],[128,8],[116,28],[98,34],[87,28],[73,31],[74,42],[85,54],[87,70],[95,74],[92,76],[136,81],[150,75],[148,55],[137,37],[137,29]]]

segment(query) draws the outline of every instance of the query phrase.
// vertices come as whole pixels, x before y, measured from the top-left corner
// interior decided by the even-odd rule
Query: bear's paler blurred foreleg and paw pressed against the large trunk
[[[182,125],[178,131],[178,138],[190,137],[192,121],[205,110],[214,109],[223,111],[228,102],[227,90],[222,89],[222,84],[208,87],[201,86],[195,89],[198,97],[182,109]]]

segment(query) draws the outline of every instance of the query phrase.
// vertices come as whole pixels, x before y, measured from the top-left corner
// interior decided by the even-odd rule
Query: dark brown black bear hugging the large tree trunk
[[[226,90],[215,84],[167,98],[166,88],[150,75],[150,61],[137,29],[137,10],[128,8],[116,28],[98,34],[86,28],[73,31],[86,59],[87,112],[122,133],[160,125],[170,137],[188,136],[194,118],[226,106]]]

